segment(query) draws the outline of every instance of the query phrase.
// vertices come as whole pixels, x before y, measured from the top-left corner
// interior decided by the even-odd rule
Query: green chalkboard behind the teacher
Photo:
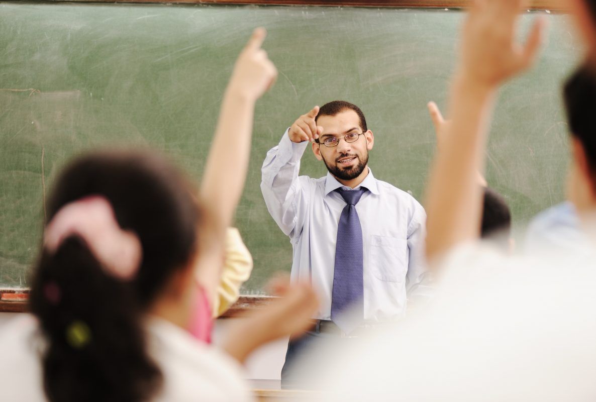
[[[527,29],[534,14],[524,15]],[[254,26],[280,76],[258,103],[236,225],[254,256],[244,292],[289,270],[291,245],[260,194],[260,165],[313,105],[361,106],[375,133],[375,176],[421,200],[434,133],[426,102],[445,107],[457,10],[0,3],[0,287],[27,286],[44,194],[64,163],[100,146],[150,145],[197,180],[232,64]],[[488,181],[518,224],[563,199],[567,163],[558,88],[578,57],[566,15],[550,15],[536,68],[502,91]],[[325,168],[308,151],[302,173]]]

